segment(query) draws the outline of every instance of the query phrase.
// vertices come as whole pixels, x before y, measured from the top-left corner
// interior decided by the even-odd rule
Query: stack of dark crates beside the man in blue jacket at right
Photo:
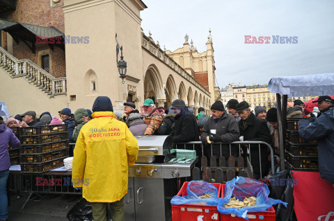
[[[285,139],[285,158],[294,170],[317,171],[318,144],[317,141],[304,141],[299,137],[299,120],[287,118],[287,136]]]

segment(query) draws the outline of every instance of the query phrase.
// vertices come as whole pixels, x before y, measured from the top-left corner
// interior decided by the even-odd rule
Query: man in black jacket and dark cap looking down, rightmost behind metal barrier
[[[267,123],[250,112],[249,105],[246,101],[241,101],[235,108],[241,117],[241,121],[239,121],[241,140],[271,143],[271,135]],[[260,147],[261,154],[259,145],[250,145],[250,163],[253,166],[255,179],[264,177],[269,172],[269,150],[267,145],[260,145]],[[244,153],[246,153],[246,148],[244,148]]]

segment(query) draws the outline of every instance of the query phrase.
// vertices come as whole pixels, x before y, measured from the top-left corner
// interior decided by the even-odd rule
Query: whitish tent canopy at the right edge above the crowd
[[[289,97],[334,94],[334,73],[271,78],[268,89],[271,93]]]

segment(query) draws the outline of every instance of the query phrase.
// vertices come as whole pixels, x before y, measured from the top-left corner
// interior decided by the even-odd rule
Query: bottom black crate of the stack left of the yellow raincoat
[[[20,163],[21,173],[43,173],[64,166],[64,159],[55,159],[44,163]]]

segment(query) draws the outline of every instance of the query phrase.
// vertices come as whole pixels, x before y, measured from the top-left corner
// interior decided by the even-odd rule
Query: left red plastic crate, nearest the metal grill
[[[189,182],[184,182],[182,188],[180,189],[178,196],[184,196],[186,194],[186,187]],[[225,184],[216,184],[212,183],[218,189],[218,196],[221,195],[221,187]],[[199,204],[181,204],[181,205],[172,205],[172,219],[173,221],[190,221],[198,220],[202,218],[203,221],[217,221],[219,220],[219,212],[217,206],[207,206]]]

